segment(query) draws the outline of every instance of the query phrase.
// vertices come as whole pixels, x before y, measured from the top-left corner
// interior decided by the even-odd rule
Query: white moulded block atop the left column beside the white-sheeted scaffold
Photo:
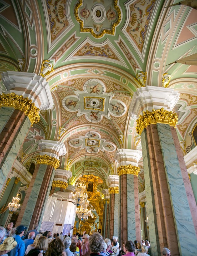
[[[38,145],[42,150],[41,155],[47,154],[47,156],[51,156],[59,160],[60,156],[64,156],[66,154],[66,147],[63,142],[40,139],[38,141]]]

